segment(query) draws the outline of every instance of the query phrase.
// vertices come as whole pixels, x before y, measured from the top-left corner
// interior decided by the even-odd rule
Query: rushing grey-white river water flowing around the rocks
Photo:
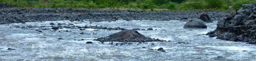
[[[171,42],[131,42],[132,45],[115,46],[92,41],[121,30],[59,29],[35,31],[38,28],[10,28],[14,25],[45,25],[49,23],[77,23],[74,25],[97,25],[137,30],[146,37],[171,40]],[[206,23],[207,29],[183,29],[185,21],[115,21],[115,22],[68,22],[44,21],[0,25],[0,61],[256,61],[256,46],[245,42],[232,42],[210,38],[205,35],[217,27],[217,21]],[[50,27],[48,27],[50,28]],[[155,30],[157,29],[157,30]],[[72,32],[63,32],[63,31]],[[61,31],[61,32],[58,32]],[[79,34],[80,32],[97,34]],[[58,40],[57,38],[63,38]],[[74,40],[76,39],[76,40]],[[79,39],[85,39],[78,41]],[[92,44],[86,44],[92,41]],[[177,42],[188,43],[177,43]],[[121,42],[114,42],[121,43]],[[146,44],[148,43],[148,44]],[[154,46],[150,46],[155,43]],[[140,48],[146,47],[146,48]],[[164,48],[166,52],[149,50]],[[7,50],[14,48],[16,50]],[[219,57],[218,57],[219,56]]]

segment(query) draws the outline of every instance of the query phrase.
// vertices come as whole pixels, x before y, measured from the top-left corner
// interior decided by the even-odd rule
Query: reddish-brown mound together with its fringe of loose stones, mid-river
[[[107,37],[101,37],[94,39],[96,41],[108,42],[108,41],[120,41],[120,42],[150,42],[150,41],[166,41],[160,39],[154,39],[145,37],[136,30],[122,30],[120,32],[110,34]]]

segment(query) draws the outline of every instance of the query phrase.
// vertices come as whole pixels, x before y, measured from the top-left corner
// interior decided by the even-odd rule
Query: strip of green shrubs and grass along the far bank
[[[20,8],[130,9],[136,11],[237,10],[256,0],[0,0]],[[232,9],[229,6],[233,6]]]

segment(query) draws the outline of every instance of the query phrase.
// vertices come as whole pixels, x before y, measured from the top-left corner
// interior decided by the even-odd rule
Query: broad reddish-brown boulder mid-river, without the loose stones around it
[[[122,30],[120,32],[110,34],[108,37],[111,38],[140,38],[140,39],[146,39],[143,34],[139,33],[135,30]]]

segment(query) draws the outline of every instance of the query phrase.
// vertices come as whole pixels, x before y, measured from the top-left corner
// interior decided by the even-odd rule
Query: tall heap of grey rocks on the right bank
[[[219,20],[215,31],[208,32],[211,37],[228,41],[256,42],[256,4],[249,4],[231,15]]]

